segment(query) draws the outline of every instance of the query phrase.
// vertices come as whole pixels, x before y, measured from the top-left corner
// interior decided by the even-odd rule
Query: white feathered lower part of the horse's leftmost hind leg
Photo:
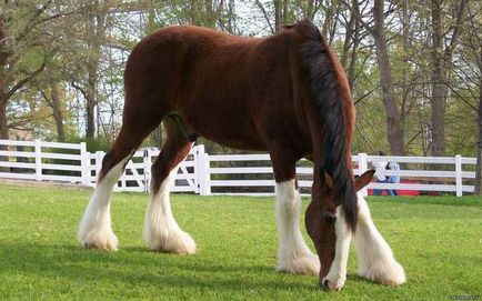
[[[113,185],[122,175],[129,157],[122,159],[97,183],[79,225],[79,240],[83,248],[117,250],[119,241],[112,231],[110,220],[110,195]]]

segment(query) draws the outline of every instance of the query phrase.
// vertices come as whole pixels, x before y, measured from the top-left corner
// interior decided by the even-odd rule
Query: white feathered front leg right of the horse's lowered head
[[[386,241],[376,230],[366,201],[358,193],[359,222],[355,247],[359,274],[384,285],[400,285],[406,281],[402,265],[393,257]]]

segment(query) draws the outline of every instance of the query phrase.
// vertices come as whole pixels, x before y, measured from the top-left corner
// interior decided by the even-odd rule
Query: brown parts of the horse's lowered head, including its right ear
[[[357,177],[355,190],[359,191],[370,183],[373,174],[374,170],[369,170]],[[340,219],[340,214],[343,214],[343,210],[337,210],[341,201],[337,199],[334,185],[332,177],[327,172],[323,172],[318,180],[314,179],[312,201],[305,213],[307,231],[313,240],[320,259],[320,284],[323,284],[321,280],[329,273],[333,263],[337,251],[335,222]],[[338,234],[342,233],[339,231]]]

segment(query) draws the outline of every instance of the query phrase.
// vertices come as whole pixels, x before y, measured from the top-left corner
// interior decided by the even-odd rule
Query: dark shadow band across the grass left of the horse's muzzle
[[[125,248],[111,253],[73,245],[0,241],[0,255],[2,277],[11,273],[51,279],[60,277],[86,284],[121,282],[194,291],[317,289],[314,277],[312,284],[307,284],[298,281],[299,275],[275,273],[273,268],[264,265],[243,265],[242,261],[234,265],[218,262],[215,258],[164,254],[142,248]]]

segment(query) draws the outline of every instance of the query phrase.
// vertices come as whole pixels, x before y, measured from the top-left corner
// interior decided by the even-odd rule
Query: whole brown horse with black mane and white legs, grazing
[[[190,26],[159,30],[132,50],[124,89],[123,124],[103,159],[80,224],[84,248],[118,248],[110,221],[112,188],[132,153],[162,121],[167,140],[152,167],[143,231],[150,249],[195,252],[193,239],[172,215],[169,189],[178,164],[195,139],[204,137],[227,147],[270,153],[277,182],[278,270],[319,274],[327,289],[344,284],[351,233],[365,221],[366,214],[359,219],[359,211],[368,211],[359,210],[357,191],[373,172],[357,179],[352,174],[350,89],[333,50],[311,21],[288,26],[264,39]],[[318,257],[299,228],[295,162],[301,158],[314,165],[305,225]],[[373,248],[370,239],[376,241],[366,234],[373,229],[360,227],[364,249]],[[363,250],[369,262],[364,274],[386,284],[402,283],[403,269],[386,248],[379,248],[386,253],[382,269]]]

